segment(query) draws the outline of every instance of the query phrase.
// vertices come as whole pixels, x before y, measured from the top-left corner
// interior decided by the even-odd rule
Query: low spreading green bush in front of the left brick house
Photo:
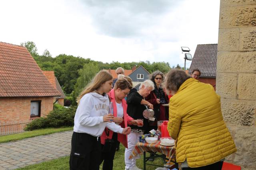
[[[47,117],[40,117],[28,123],[24,128],[25,131],[32,131],[34,129],[42,129],[46,127],[61,127],[74,126],[74,117],[76,114],[76,107],[70,108],[55,108]]]

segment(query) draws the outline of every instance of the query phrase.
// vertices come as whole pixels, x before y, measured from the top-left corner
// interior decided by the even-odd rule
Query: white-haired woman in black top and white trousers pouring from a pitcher
[[[129,156],[132,154],[136,143],[139,141],[139,137],[147,132],[148,130],[148,119],[143,117],[143,111],[148,106],[150,109],[153,109],[153,105],[150,102],[146,101],[146,98],[150,92],[154,90],[154,83],[151,80],[146,80],[140,84],[140,88],[137,92],[136,88],[130,90],[130,93],[127,96],[127,113],[134,120],[143,119],[142,127],[130,125],[132,131],[131,135],[128,135],[128,148],[124,152],[125,168],[126,170],[140,170],[136,166],[136,159],[139,159],[140,156],[129,159]]]

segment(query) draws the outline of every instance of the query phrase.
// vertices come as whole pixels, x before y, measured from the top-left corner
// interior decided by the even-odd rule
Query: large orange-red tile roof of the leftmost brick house
[[[60,95],[26,47],[0,42],[0,97]]]

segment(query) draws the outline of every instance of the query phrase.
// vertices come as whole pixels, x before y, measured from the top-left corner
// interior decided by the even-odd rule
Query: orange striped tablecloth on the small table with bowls
[[[162,146],[160,145],[160,141],[152,144],[140,142],[136,143],[129,159],[133,158],[134,156],[137,156],[138,154],[142,154],[144,151],[160,152],[166,155],[166,164],[168,165],[173,164],[173,162],[175,161],[175,147]]]

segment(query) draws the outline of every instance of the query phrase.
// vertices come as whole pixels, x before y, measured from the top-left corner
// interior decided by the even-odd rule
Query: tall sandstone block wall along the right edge
[[[216,92],[238,149],[226,161],[256,170],[256,0],[220,0]]]

